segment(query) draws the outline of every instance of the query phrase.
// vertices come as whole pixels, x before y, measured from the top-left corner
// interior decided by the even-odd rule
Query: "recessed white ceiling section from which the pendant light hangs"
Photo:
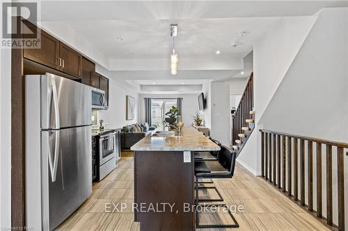
[[[173,49],[171,22],[178,24],[175,49],[180,58],[242,58],[278,18],[102,20],[71,22],[70,27],[110,59],[167,59]],[[61,22],[64,24],[64,22]],[[93,28],[93,33],[91,30]],[[247,31],[242,38],[239,32]],[[233,48],[231,42],[242,44]],[[216,55],[216,50],[221,51]]]

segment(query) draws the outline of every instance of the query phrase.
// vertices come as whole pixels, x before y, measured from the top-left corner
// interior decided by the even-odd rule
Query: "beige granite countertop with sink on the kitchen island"
[[[131,147],[132,151],[219,151],[220,147],[198,132],[182,128],[182,136],[158,137],[148,135]]]

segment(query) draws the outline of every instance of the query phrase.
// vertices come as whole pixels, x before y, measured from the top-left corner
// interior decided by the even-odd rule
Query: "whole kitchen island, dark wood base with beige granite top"
[[[220,147],[195,128],[153,132],[134,144],[134,220],[141,230],[195,230],[194,151]]]

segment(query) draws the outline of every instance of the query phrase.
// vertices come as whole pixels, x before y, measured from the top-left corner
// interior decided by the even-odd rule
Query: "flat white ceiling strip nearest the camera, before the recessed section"
[[[313,15],[347,1],[40,1],[43,21],[226,19]]]

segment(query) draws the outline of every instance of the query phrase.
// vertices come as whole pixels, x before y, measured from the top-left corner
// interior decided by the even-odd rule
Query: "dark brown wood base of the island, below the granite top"
[[[134,220],[141,230],[195,230],[194,160],[183,151],[134,152]]]

